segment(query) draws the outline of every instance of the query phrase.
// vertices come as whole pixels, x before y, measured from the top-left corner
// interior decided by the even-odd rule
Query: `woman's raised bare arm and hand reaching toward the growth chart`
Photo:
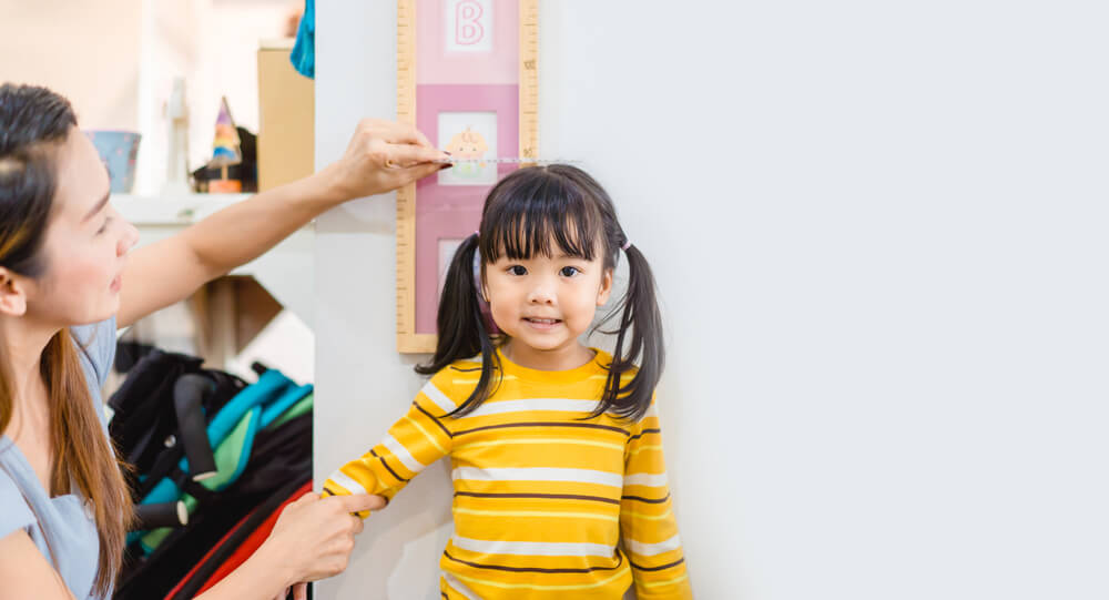
[[[205,283],[264,254],[328,209],[435,173],[442,165],[430,161],[442,157],[446,155],[414,128],[363,121],[338,162],[132,252],[123,271],[118,326],[189,297]]]

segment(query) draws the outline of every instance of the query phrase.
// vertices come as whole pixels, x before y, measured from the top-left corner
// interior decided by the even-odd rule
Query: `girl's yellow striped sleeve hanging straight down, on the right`
[[[691,599],[685,556],[667,484],[662,429],[654,401],[624,449],[620,533],[639,600]]]

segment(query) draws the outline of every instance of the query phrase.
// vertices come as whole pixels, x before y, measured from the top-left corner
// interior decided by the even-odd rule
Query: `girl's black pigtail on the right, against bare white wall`
[[[612,364],[604,382],[601,404],[592,416],[611,410],[620,417],[638,421],[651,406],[667,353],[651,266],[635,246],[627,245],[624,256],[628,257],[628,292],[612,314],[620,315],[619,328],[611,332],[617,336],[617,344],[612,349]],[[633,369],[637,362],[639,373],[621,386],[623,374]]]

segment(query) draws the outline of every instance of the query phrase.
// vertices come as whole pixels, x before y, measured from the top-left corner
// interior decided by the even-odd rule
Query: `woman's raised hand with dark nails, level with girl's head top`
[[[334,191],[335,200],[346,202],[426,177],[447,166],[430,161],[446,157],[410,125],[365,119],[358,123],[343,157],[317,175]]]

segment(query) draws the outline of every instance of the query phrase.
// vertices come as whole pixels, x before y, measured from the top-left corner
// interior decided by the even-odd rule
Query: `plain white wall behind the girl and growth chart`
[[[542,151],[584,161],[657,268],[699,598],[1109,596],[1093,7],[543,0]],[[323,165],[394,114],[396,9],[317,10]],[[420,385],[394,210],[318,224],[317,481]],[[440,465],[319,597],[437,598],[449,521]]]

